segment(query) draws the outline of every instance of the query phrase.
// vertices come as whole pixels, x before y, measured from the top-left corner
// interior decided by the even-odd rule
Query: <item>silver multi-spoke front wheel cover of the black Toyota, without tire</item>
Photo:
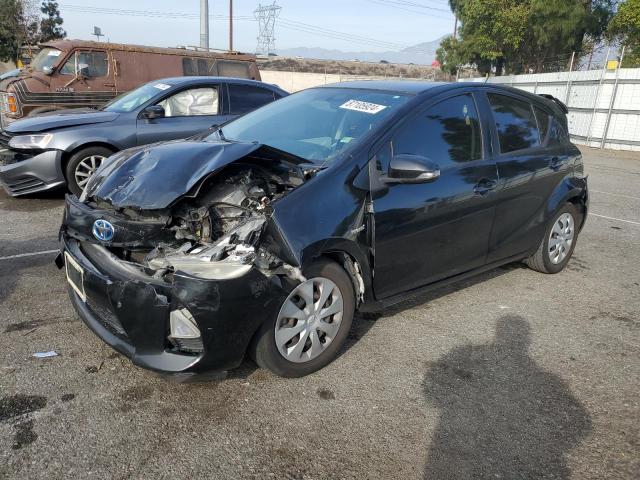
[[[280,354],[295,363],[318,357],[340,330],[343,303],[340,289],[328,278],[298,285],[278,313],[275,340]]]

